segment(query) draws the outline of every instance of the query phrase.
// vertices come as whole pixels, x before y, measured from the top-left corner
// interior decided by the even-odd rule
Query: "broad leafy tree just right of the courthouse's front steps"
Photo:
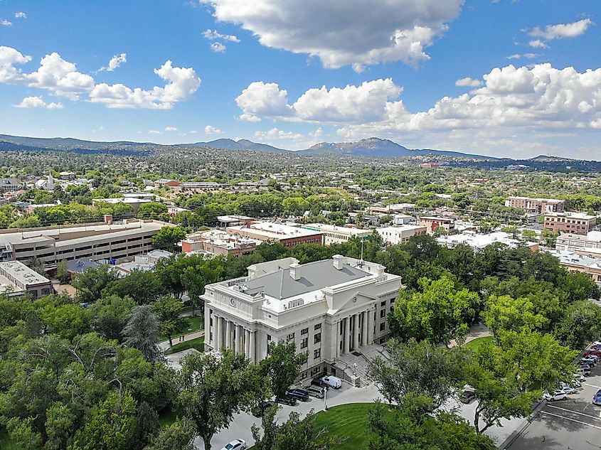
[[[389,357],[371,360],[368,373],[389,405],[400,405],[408,393],[419,392],[430,397],[433,411],[462,385],[467,355],[460,346],[447,350],[427,341],[390,339],[386,351]]]

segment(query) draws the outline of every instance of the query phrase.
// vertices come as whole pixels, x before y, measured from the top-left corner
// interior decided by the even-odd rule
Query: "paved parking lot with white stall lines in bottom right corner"
[[[592,397],[601,389],[601,361],[592,368],[578,393],[568,400],[547,402],[508,450],[601,449],[601,407]]]

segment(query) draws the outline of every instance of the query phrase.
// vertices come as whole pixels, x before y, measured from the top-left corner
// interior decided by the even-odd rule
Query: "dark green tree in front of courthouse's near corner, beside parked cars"
[[[267,358],[259,363],[259,372],[271,380],[272,392],[277,398],[286,394],[300,373],[300,368],[307,363],[307,353],[297,354],[297,345],[289,343],[270,343]]]

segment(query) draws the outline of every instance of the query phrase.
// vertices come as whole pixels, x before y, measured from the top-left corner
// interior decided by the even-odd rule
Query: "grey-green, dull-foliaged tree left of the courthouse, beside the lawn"
[[[147,361],[154,361],[159,356],[158,324],[149,305],[135,306],[132,316],[123,329],[124,345],[137,348]]]

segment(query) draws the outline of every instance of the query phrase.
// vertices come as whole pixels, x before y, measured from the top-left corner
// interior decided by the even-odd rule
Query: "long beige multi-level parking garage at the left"
[[[0,230],[0,261],[41,259],[46,267],[71,259],[111,259],[129,257],[153,250],[152,237],[162,227],[159,220],[126,219],[112,223],[85,223],[54,227]]]

